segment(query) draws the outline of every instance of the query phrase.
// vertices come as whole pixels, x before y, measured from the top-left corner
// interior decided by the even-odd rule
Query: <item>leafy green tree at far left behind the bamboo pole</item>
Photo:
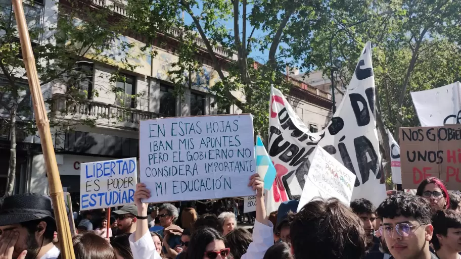
[[[70,106],[71,102],[86,100],[89,94],[98,95],[97,91],[88,93],[81,87],[82,81],[92,78],[90,74],[82,71],[81,61],[93,57],[93,60],[88,62],[107,62],[108,59],[114,58],[114,49],[129,52],[132,46],[123,42],[118,45],[113,44],[120,36],[120,32],[126,28],[126,23],[122,20],[114,22],[114,19],[111,19],[113,12],[110,7],[94,10],[82,7],[77,2],[58,5],[56,10],[59,10],[59,13],[51,16],[49,21],[45,21],[45,23],[52,23],[49,28],[41,26],[41,16],[36,20],[28,17],[28,26],[42,89],[51,87],[51,84],[55,90],[61,87],[67,105]],[[34,5],[25,5],[26,10],[33,8]],[[2,1],[0,3],[0,109],[2,111],[0,119],[5,126],[2,127],[2,133],[10,137],[6,195],[11,195],[14,191],[17,134],[23,136],[36,134],[29,86],[15,25],[11,2]],[[128,63],[128,58],[129,55],[126,55],[120,61],[121,67],[134,69],[134,66]],[[117,75],[118,73],[115,73],[114,78]],[[50,127],[56,131],[56,135],[59,131],[72,129],[77,124],[89,126],[95,124],[94,119],[73,120],[72,111],[57,111],[53,100],[45,101],[50,108]],[[55,116],[56,112],[66,115],[67,118],[58,119]]]

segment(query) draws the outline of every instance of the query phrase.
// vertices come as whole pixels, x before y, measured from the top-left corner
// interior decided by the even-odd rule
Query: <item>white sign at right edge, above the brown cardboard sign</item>
[[[461,83],[411,92],[422,127],[441,127],[461,121]]]

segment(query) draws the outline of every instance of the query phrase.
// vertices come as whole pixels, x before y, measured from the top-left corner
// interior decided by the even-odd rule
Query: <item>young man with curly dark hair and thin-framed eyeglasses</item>
[[[434,228],[427,200],[407,193],[392,195],[377,213],[383,219],[380,231],[395,259],[437,259],[429,250]]]

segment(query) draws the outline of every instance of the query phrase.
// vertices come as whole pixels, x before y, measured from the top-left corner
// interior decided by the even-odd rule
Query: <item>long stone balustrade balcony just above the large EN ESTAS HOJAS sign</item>
[[[57,119],[67,121],[91,120],[97,126],[137,130],[139,122],[161,117],[162,114],[124,108],[94,100],[75,101],[65,94],[53,94],[52,112]]]

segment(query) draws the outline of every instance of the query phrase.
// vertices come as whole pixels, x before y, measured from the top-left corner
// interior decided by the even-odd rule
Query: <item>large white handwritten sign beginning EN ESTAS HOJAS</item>
[[[254,195],[253,117],[250,114],[160,118],[140,122],[144,202]]]

